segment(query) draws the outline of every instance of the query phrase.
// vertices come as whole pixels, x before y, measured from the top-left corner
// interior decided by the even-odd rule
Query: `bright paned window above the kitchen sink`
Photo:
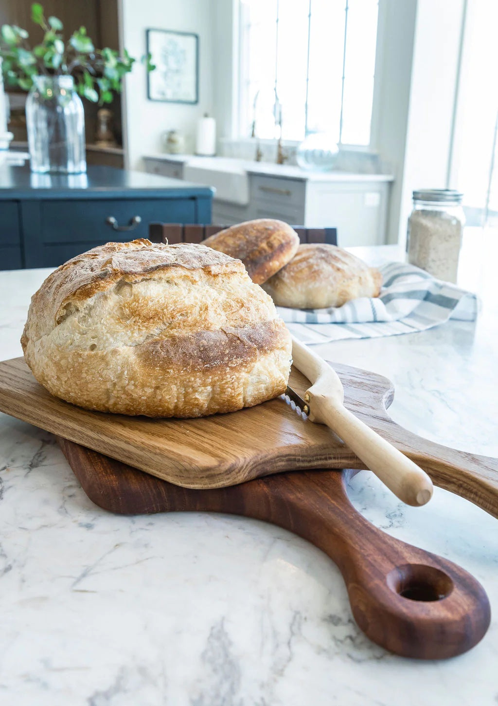
[[[286,140],[369,145],[377,14],[377,0],[241,0],[241,136],[256,119],[276,138],[280,109]]]

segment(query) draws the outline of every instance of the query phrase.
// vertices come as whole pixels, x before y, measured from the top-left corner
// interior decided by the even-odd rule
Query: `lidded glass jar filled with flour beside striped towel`
[[[465,216],[462,194],[452,189],[413,191],[408,218],[408,262],[438,280],[456,282]]]

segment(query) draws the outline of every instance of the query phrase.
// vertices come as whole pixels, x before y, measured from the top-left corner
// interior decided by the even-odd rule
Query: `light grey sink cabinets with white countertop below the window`
[[[213,223],[279,218],[308,228],[337,228],[341,246],[386,239],[390,174],[308,172],[233,157],[147,155],[145,170],[214,186]]]

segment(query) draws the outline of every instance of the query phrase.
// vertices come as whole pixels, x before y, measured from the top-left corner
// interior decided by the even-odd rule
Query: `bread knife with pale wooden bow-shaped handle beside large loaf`
[[[312,383],[304,399],[291,387],[286,395],[298,412],[326,424],[384,485],[407,505],[425,505],[432,497],[430,477],[389,441],[344,407],[344,388],[336,371],[292,337],[293,365]]]

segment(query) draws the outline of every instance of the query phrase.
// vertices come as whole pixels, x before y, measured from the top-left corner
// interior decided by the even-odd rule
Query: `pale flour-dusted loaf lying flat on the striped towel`
[[[300,245],[291,262],[262,285],[277,306],[325,309],[378,297],[382,275],[336,245]]]

